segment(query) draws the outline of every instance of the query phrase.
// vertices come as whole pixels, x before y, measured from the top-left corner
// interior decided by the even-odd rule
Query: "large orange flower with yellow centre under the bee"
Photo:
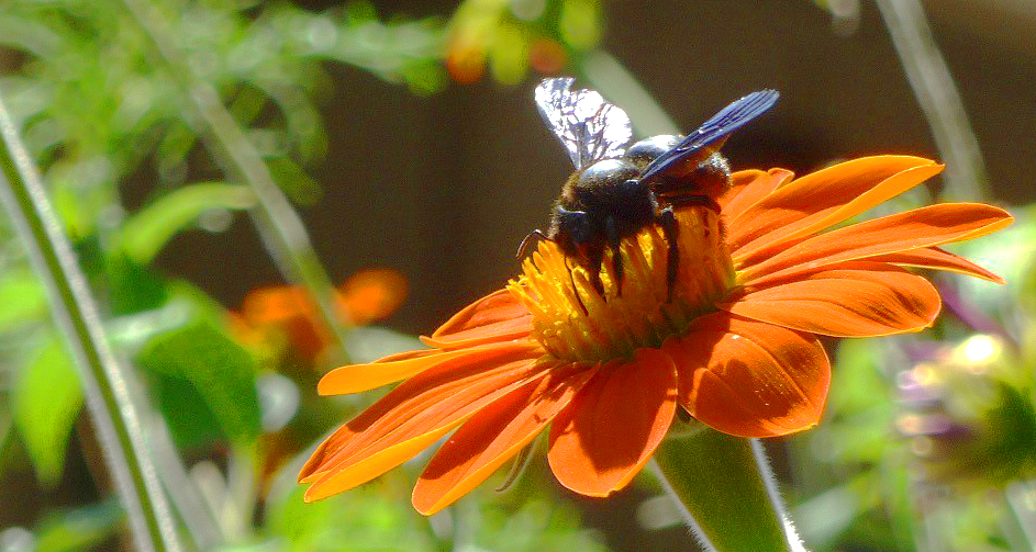
[[[650,459],[678,407],[740,437],[815,425],[831,379],[816,335],[918,331],[938,314],[935,288],[901,267],[1001,282],[937,247],[1006,226],[998,207],[939,204],[823,232],[942,168],[882,156],[798,180],[782,169],[737,172],[720,216],[677,214],[671,301],[656,227],[623,243],[621,296],[605,260],[606,300],[542,243],[522,277],[424,338],[432,349],[324,376],[325,395],[406,381],[318,448],[300,474],[312,484],[307,499],[377,477],[454,429],[414,488],[422,514],[463,496],[547,426],[558,481],[606,496]]]

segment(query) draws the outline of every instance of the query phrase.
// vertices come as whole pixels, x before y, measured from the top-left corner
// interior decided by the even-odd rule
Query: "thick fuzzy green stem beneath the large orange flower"
[[[664,441],[655,451],[655,463],[666,491],[705,550],[804,550],[758,439],[704,429]]]

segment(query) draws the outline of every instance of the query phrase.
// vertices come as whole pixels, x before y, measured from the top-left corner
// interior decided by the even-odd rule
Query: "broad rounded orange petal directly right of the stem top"
[[[831,365],[810,334],[715,313],[662,349],[678,367],[680,404],[716,430],[773,437],[820,420]]]

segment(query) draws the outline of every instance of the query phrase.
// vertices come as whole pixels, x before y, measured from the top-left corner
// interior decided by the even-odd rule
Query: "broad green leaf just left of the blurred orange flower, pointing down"
[[[152,339],[137,354],[141,368],[190,382],[235,442],[259,435],[255,359],[210,320]]]

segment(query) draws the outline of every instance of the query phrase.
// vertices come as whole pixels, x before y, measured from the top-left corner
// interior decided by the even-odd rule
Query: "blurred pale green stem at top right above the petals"
[[[989,177],[979,140],[971,129],[960,92],[939,52],[920,0],[877,0],[892,44],[903,64],[935,145],[946,161],[943,196],[968,201],[984,198]]]

